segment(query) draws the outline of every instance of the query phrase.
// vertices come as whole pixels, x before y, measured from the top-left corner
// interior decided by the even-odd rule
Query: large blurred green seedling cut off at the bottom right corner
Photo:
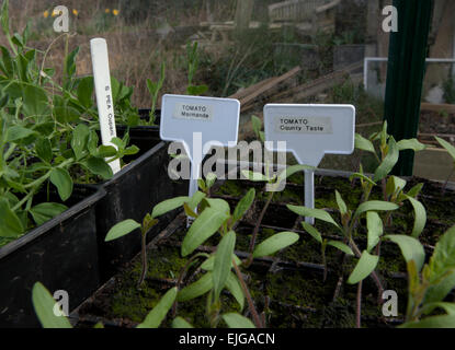
[[[447,301],[455,288],[455,228],[441,236],[428,264],[418,240],[407,235],[384,238],[400,247],[407,262],[408,305],[400,327],[455,328],[455,303]]]

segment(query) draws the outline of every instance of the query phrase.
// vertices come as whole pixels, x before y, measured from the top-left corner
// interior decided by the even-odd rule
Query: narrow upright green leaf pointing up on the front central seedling
[[[236,233],[229,231],[219,242],[215,253],[215,262],[213,269],[215,301],[218,301],[219,294],[226,284],[226,280],[232,265],[234,247],[236,246]]]

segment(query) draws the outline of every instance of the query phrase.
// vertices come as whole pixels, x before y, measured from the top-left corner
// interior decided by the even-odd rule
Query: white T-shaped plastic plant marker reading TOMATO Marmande
[[[191,162],[190,197],[197,191],[202,161],[211,148],[237,145],[239,117],[238,100],[162,96],[160,138],[183,143]]]

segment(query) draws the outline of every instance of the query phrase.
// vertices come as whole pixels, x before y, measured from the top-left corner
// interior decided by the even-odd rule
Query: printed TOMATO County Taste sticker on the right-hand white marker
[[[278,117],[275,119],[276,132],[333,133],[330,117]]]

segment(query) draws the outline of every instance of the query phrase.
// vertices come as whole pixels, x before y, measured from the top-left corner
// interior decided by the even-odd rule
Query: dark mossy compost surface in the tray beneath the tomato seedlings
[[[303,177],[293,176],[286,189],[274,195],[260,226],[258,242],[261,243],[277,232],[295,231],[299,241],[273,257],[257,259],[248,268],[242,269],[246,282],[250,289],[255,306],[272,328],[345,328],[355,327],[356,285],[345,283],[350,271],[357,259],[343,255],[328,247],[328,275],[323,280],[320,245],[305,231],[296,214],[287,210],[287,203],[303,205]],[[412,178],[407,189],[418,183],[423,183],[419,200],[428,213],[425,230],[420,236],[428,256],[431,255],[437,238],[455,224],[453,208],[455,195],[446,190],[443,195],[441,185],[421,178]],[[350,209],[355,209],[361,200],[362,191],[359,184],[352,184],[342,177],[316,177],[316,208],[332,211],[334,218],[337,208],[334,190],[342,195]],[[243,180],[226,180],[212,196],[227,200],[234,210],[238,200],[249,188],[257,189],[257,199],[236,228],[236,253],[244,259],[255,220],[265,202],[266,192],[261,191],[263,184]],[[382,199],[379,190],[375,190],[371,199]],[[338,219],[338,218],[337,218]],[[410,234],[413,226],[413,211],[408,205],[394,212],[391,224],[385,228],[385,234]],[[148,312],[158,303],[167,290],[174,287],[182,268],[187,259],[180,254],[181,242],[186,233],[185,217],[180,213],[170,228],[155,238],[148,246],[148,273],[140,288],[137,280],[140,276],[140,260],[136,257],[123,271],[111,279],[90,300],[78,310],[78,326],[92,326],[103,322],[106,326],[134,327],[140,323]],[[316,221],[316,228],[328,238],[341,240],[340,234],[327,223]],[[214,235],[200,247],[200,252],[212,253],[219,242]],[[360,248],[366,246],[366,232],[357,230],[355,237]],[[385,289],[397,291],[399,315],[396,318],[383,317],[382,305],[378,303],[378,291],[372,279],[363,283],[362,326],[363,327],[395,327],[403,319],[407,301],[406,264],[399,248],[384,242],[380,248],[382,258],[377,272]],[[183,288],[198,280],[205,271],[193,269],[179,285]],[[452,298],[452,296],[451,296]],[[221,313],[241,312],[248,314],[248,304],[241,311],[239,304],[229,292],[221,296]],[[171,325],[173,316],[185,318],[195,327],[209,327],[205,317],[206,295],[190,302],[179,302],[162,324]],[[225,327],[223,322],[218,325]]]

